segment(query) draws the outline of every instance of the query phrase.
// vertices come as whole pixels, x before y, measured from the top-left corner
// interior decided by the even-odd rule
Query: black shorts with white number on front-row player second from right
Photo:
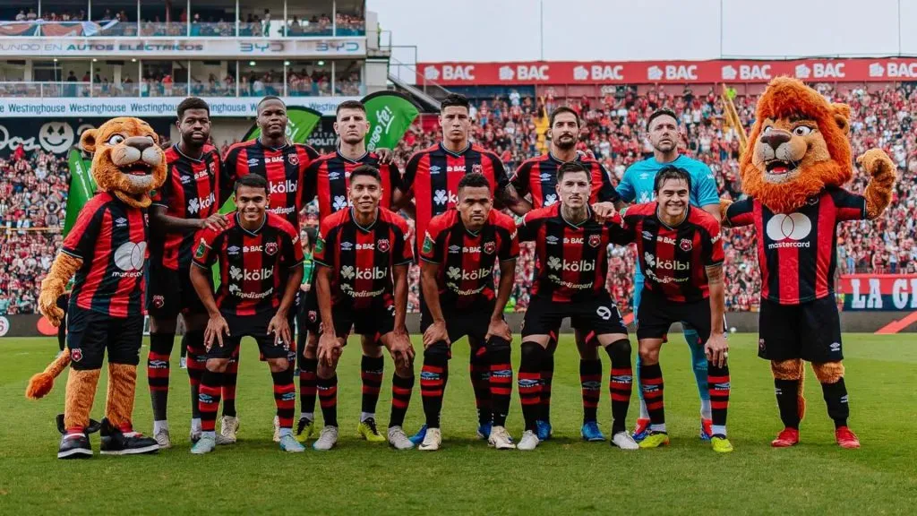
[[[551,335],[565,318],[570,326],[584,333],[586,342],[609,333],[627,334],[621,312],[607,293],[573,303],[558,303],[547,297],[532,296],[522,326],[523,340],[529,335]]]

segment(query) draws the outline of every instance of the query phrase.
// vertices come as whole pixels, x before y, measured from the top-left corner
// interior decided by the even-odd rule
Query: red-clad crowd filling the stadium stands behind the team
[[[314,74],[294,74],[291,81],[315,84]],[[217,84],[215,77],[212,83]],[[269,81],[270,83],[270,81]],[[319,80],[321,83],[321,80]],[[300,87],[299,85],[292,87]],[[310,86],[314,87],[314,86]],[[880,147],[898,164],[900,180],[889,210],[876,221],[841,225],[838,272],[841,274],[917,273],[917,245],[914,243],[914,218],[917,212],[917,134],[911,131],[911,113],[917,112],[917,93],[911,87],[887,87],[869,92],[855,89],[840,92],[830,84],[819,84],[819,91],[834,102],[845,102],[852,109],[851,141],[854,154]],[[265,92],[267,95],[268,92]],[[338,94],[340,95],[340,94]],[[735,107],[742,123],[751,126],[756,98],[738,96]],[[473,139],[496,151],[512,172],[525,159],[547,150],[547,113],[567,104],[580,113],[583,129],[580,151],[591,152],[612,175],[614,184],[632,163],[650,155],[646,139],[646,117],[658,107],[669,107],[679,114],[683,129],[684,153],[707,163],[722,196],[740,196],[738,179],[738,138],[735,129],[724,123],[724,110],[713,90],[695,93],[685,89],[672,93],[658,87],[646,95],[627,89],[601,99],[560,100],[553,95],[536,99],[511,92],[508,97],[476,103],[472,109]],[[395,150],[403,167],[410,155],[432,145],[438,129],[424,130],[416,123]],[[223,142],[226,148],[230,142]],[[862,192],[867,178],[857,175],[849,188]],[[54,156],[37,153],[0,160],[0,222],[3,251],[0,261],[0,314],[34,310],[37,287],[47,265],[60,245],[58,231],[63,223],[66,163]],[[311,213],[306,223],[315,225]],[[37,231],[36,228],[51,228]],[[760,276],[755,240],[748,229],[725,230],[726,306],[732,310],[757,309]],[[623,311],[632,303],[635,255],[631,248],[615,248],[610,253],[608,287]],[[524,246],[517,267],[517,281],[508,308],[525,309],[534,276],[534,256]],[[409,308],[419,306],[419,269],[411,271]]]

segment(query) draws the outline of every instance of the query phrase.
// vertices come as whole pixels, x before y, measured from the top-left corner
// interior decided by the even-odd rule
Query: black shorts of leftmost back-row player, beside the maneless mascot
[[[207,282],[214,287],[213,276],[206,271]],[[151,261],[147,288],[147,310],[157,319],[175,319],[178,314],[207,313],[204,303],[191,284],[191,271],[186,268],[173,271]]]

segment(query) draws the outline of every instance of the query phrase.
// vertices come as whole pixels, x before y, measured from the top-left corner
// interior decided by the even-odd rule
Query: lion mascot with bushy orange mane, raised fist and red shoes
[[[850,107],[831,104],[796,79],[779,77],[757,103],[740,162],[746,198],[723,202],[725,226],[752,225],[761,267],[758,356],[770,361],[784,429],[775,447],[799,443],[805,410],[802,361],[822,384],[834,436],[858,448],[847,428],[841,328],[834,300],[836,225],[876,219],[888,208],[896,169],[884,151],[857,158],[870,177],[863,195],[842,185],[854,176]]]

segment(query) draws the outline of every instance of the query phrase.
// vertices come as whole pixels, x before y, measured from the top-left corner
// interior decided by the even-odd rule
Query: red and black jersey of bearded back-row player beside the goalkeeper
[[[590,203],[617,202],[621,199],[612,185],[608,171],[599,163],[586,156],[577,155],[576,161],[586,167],[591,173],[592,193]],[[532,206],[544,208],[557,203],[558,197],[558,167],[564,164],[553,154],[548,152],[536,158],[525,160],[511,180],[519,196],[530,194]]]

